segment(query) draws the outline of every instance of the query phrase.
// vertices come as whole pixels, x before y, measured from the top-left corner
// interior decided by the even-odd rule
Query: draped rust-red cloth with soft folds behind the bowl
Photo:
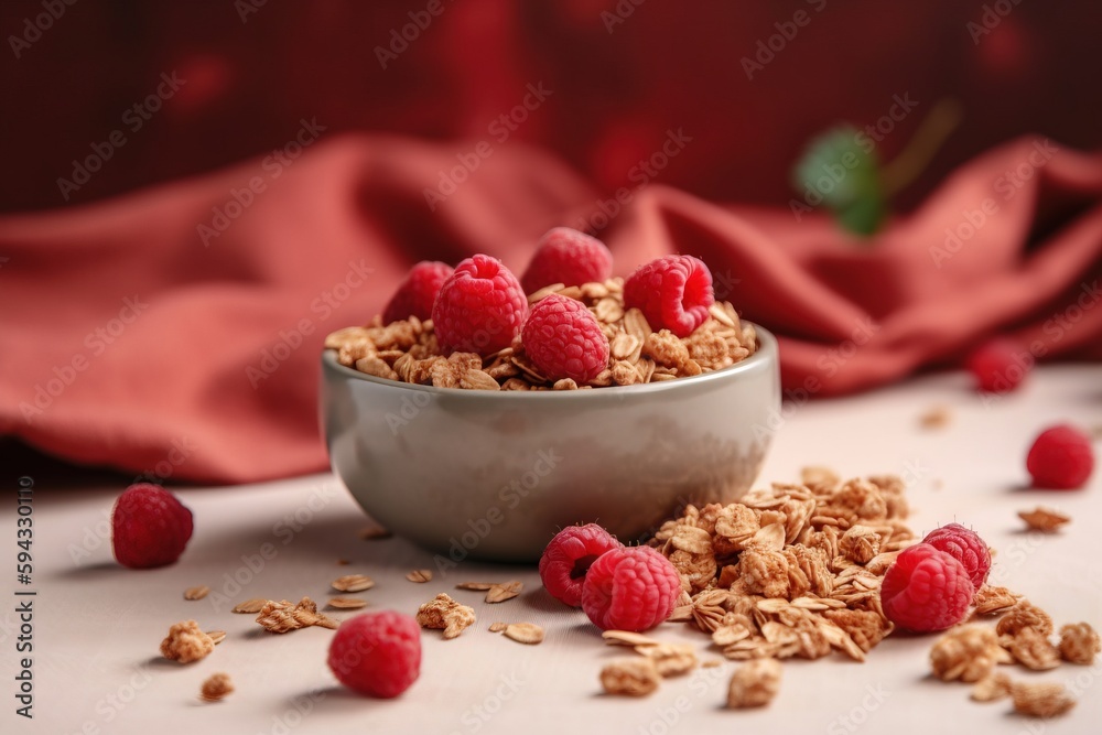
[[[322,469],[327,332],[378,312],[415,260],[480,251],[519,272],[550,227],[601,221],[585,181],[519,145],[496,150],[430,212],[424,188],[456,150],[337,136],[287,166],[255,160],[0,218],[0,432],[192,480]],[[620,274],[670,251],[707,262],[721,296],[782,336],[790,390],[868,388],[957,360],[995,332],[1039,357],[1102,358],[1102,158],[1059,149],[1031,164],[1042,150],[1020,140],[983,155],[872,242],[821,217],[657,185],[601,236]],[[1006,187],[1008,171],[1019,188]],[[250,180],[264,191],[238,212],[229,203],[248,198]],[[987,197],[997,210],[988,203],[950,252],[946,229],[965,234]],[[214,236],[216,224],[228,226]],[[951,257],[938,262],[932,248]]]

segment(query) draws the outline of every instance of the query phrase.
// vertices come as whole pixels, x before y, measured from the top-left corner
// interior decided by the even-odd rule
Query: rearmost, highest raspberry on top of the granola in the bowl
[[[520,277],[525,293],[544,285],[582,285],[613,274],[613,253],[595,237],[570,227],[555,227],[540,238],[536,255]]]

